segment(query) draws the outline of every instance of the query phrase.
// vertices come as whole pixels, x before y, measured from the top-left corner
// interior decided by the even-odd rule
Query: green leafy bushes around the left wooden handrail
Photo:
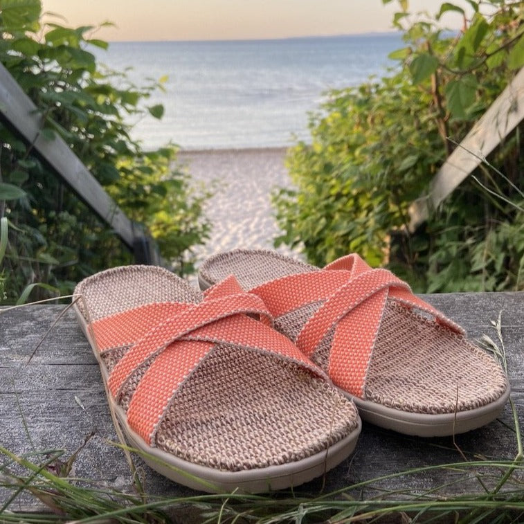
[[[93,27],[43,24],[41,16],[39,0],[1,0],[0,62],[41,112],[42,135],[61,136],[120,208],[150,228],[172,268],[190,271],[188,250],[209,231],[206,194],[172,168],[173,145],[146,152],[127,124],[129,116],[161,118],[161,105],[146,105],[161,84],[136,87],[125,74],[102,69],[88,49],[107,43],[89,37]],[[85,275],[132,262],[109,228],[3,124],[0,217],[10,222],[0,300],[16,300],[32,282],[67,293]],[[48,289],[36,291],[45,296]]]

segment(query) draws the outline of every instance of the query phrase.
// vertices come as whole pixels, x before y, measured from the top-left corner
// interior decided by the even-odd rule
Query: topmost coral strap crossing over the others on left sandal
[[[111,370],[108,381],[111,395],[117,397],[120,388],[134,370],[170,343],[198,327],[240,313],[269,316],[260,298],[248,293],[238,293],[190,305],[181,313],[156,325],[141,341],[131,347]]]

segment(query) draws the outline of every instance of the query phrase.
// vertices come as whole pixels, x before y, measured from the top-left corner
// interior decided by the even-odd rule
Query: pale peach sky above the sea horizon
[[[410,10],[437,12],[444,0],[411,0]],[[464,0],[455,3],[463,5]],[[42,0],[66,26],[98,26],[115,41],[266,39],[392,30],[396,1],[382,0]],[[447,17],[448,15],[446,15]],[[458,19],[449,14],[449,26]],[[451,22],[451,23],[450,23]]]

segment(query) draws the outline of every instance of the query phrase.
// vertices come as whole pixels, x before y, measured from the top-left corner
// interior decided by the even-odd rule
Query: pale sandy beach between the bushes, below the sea
[[[280,229],[270,195],[275,186],[291,185],[285,154],[284,148],[179,152],[179,161],[195,181],[206,186],[215,181],[206,206],[213,231],[206,245],[195,249],[200,260],[237,247],[274,249]],[[287,246],[278,251],[291,254]]]

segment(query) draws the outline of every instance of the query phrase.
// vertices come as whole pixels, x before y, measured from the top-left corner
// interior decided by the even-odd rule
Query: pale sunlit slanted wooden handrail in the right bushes
[[[410,231],[451,194],[524,118],[524,68],[473,125],[431,181],[428,195],[410,206]]]

